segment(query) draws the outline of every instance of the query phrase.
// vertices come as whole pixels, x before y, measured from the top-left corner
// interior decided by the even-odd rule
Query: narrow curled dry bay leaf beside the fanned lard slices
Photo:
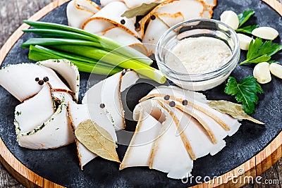
[[[216,111],[221,113],[226,113],[231,115],[233,118],[238,120],[250,120],[254,123],[264,125],[264,123],[252,118],[250,115],[247,115],[243,110],[240,104],[235,104],[230,101],[209,101],[209,106],[214,108]]]

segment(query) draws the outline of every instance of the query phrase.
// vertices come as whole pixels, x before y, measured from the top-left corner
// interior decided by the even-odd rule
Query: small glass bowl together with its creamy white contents
[[[216,43],[224,43],[230,49],[230,56],[224,58],[219,64],[205,65],[200,62],[199,54],[193,54],[191,49],[185,54],[188,61],[192,61],[190,67],[187,63],[178,58],[178,54],[173,53],[173,49],[179,46],[180,42],[189,39],[202,40],[209,37],[212,45],[207,45],[207,48],[194,42],[195,48],[202,48],[202,53],[207,53],[204,58],[212,58],[211,63],[218,61],[214,53],[216,51]],[[189,44],[188,44],[189,45]],[[192,44],[191,44],[192,45]],[[213,46],[214,45],[214,46]],[[184,46],[186,48],[186,46]],[[182,50],[185,52],[186,49]],[[183,23],[174,25],[161,36],[155,50],[155,56],[159,70],[172,82],[183,89],[192,91],[203,91],[212,89],[224,82],[231,72],[234,70],[240,58],[240,44],[236,32],[228,25],[221,23],[218,20],[212,19],[196,19],[188,20]],[[197,59],[199,61],[197,61]],[[195,62],[194,62],[195,61]],[[205,62],[205,61],[203,61]],[[191,63],[191,62],[190,62]],[[216,67],[218,65],[219,67]],[[214,69],[213,69],[214,68]]]

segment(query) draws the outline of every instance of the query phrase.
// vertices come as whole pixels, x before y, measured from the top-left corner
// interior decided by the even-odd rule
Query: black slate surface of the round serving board
[[[281,17],[271,8],[261,1],[251,0],[219,0],[214,8],[214,19],[219,19],[219,15],[225,10],[232,10],[242,13],[245,9],[256,11],[255,17],[249,23],[258,23],[260,26],[274,27],[282,35]],[[56,8],[54,11],[42,18],[42,21],[51,23],[67,24],[66,4]],[[13,46],[4,65],[30,62],[27,58],[28,49],[21,49],[20,44],[25,42],[32,34],[25,34]],[[281,43],[278,37],[274,42]],[[245,53],[241,55],[241,61]],[[282,62],[282,53],[274,56],[274,60]],[[253,65],[237,66],[232,76],[242,79],[252,75]],[[84,94],[87,87],[89,74],[81,73],[81,94]],[[282,80],[272,77],[272,82],[263,85],[265,94],[259,95],[257,111],[253,116],[266,123],[265,126],[255,125],[247,121],[242,121],[240,130],[233,137],[226,138],[227,146],[216,156],[205,156],[197,159],[194,163],[192,175],[201,177],[220,176],[232,170],[238,165],[255,156],[256,153],[264,149],[271,140],[281,132],[282,121]],[[97,77],[97,81],[99,77]],[[226,99],[234,101],[230,96],[223,93],[224,84],[212,90],[204,92],[207,99]],[[149,84],[137,84],[127,93],[126,104],[132,109],[137,101],[149,92],[152,86]],[[18,160],[34,171],[38,175],[56,182],[66,187],[188,187],[196,184],[183,184],[180,180],[171,180],[165,173],[148,168],[128,168],[118,171],[118,163],[105,161],[102,158],[95,158],[87,164],[83,171],[80,170],[78,157],[76,156],[75,144],[64,146],[60,149],[47,151],[34,151],[23,149],[16,142],[16,133],[13,125],[13,112],[19,102],[11,96],[5,89],[0,87],[0,135],[4,143]],[[135,123],[127,121],[128,129],[134,130]],[[126,146],[118,147],[120,158],[126,151]]]

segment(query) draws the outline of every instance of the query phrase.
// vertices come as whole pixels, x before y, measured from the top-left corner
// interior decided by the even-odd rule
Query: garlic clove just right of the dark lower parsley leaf
[[[257,82],[260,84],[266,84],[271,81],[271,75],[269,70],[269,63],[262,62],[255,65],[253,75],[257,78]]]

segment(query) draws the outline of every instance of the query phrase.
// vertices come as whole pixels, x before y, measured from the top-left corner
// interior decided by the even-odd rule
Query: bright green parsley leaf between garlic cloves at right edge
[[[261,38],[252,41],[247,51],[247,59],[240,63],[261,63],[264,61],[270,61],[271,56],[276,54],[282,49],[282,45],[272,44],[271,41],[262,42]]]

